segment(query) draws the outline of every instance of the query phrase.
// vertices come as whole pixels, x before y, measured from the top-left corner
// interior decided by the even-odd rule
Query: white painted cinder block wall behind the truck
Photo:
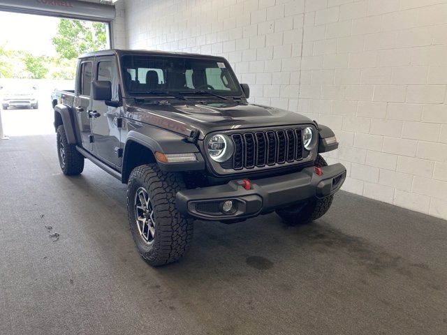
[[[334,129],[346,191],[447,218],[447,0],[125,4],[129,47],[226,57],[251,102]]]

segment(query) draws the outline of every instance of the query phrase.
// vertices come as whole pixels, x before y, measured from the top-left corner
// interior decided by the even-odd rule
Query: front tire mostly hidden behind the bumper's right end
[[[318,155],[314,165],[317,168],[322,168],[323,166],[328,166],[328,163],[326,163],[323,157]],[[306,225],[326,214],[333,199],[334,195],[332,194],[322,199],[309,200],[304,204],[294,204],[278,209],[277,214],[281,216],[287,225]]]

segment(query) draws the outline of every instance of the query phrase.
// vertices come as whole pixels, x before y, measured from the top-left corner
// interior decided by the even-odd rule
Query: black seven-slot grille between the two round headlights
[[[242,170],[292,163],[302,159],[301,129],[255,131],[231,135],[235,145],[233,158],[222,168]]]

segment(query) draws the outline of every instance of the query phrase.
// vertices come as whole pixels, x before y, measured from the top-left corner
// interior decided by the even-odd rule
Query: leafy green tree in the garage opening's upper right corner
[[[107,45],[105,24],[61,19],[52,43],[64,59],[77,58],[85,52],[103,50]]]

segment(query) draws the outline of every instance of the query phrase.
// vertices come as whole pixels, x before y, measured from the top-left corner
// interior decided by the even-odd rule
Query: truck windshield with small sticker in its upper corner
[[[228,63],[220,59],[127,55],[122,57],[122,68],[126,91],[132,95],[144,96],[157,91],[242,94]]]

